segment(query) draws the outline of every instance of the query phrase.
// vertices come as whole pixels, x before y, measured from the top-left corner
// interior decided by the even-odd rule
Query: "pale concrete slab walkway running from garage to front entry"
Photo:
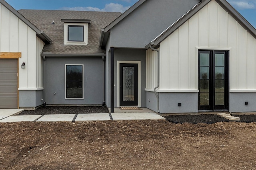
[[[53,115],[16,115],[23,109],[0,109],[0,122],[19,121],[105,121],[105,120],[144,120],[165,119],[157,113],[142,109],[140,112],[122,111],[115,113],[79,113],[79,114],[53,114]],[[116,110],[118,111],[118,110]],[[137,110],[136,110],[137,111]]]

